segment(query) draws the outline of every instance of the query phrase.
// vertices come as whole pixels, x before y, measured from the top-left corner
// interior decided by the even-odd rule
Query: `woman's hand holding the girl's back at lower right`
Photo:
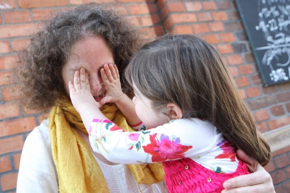
[[[238,149],[238,157],[250,165],[254,173],[240,175],[224,182],[222,193],[275,193],[270,174],[252,157]]]

